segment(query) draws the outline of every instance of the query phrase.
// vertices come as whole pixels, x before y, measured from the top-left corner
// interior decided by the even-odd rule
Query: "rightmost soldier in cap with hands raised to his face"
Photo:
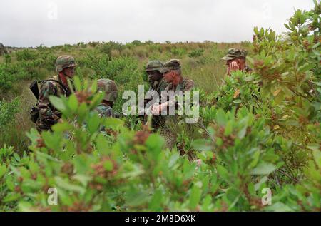
[[[230,76],[232,71],[244,71],[246,73],[250,73],[252,71],[246,65],[246,56],[248,55],[248,51],[245,51],[240,48],[230,48],[228,50],[228,54],[222,58],[222,60],[226,61],[226,65],[228,66],[227,74]]]

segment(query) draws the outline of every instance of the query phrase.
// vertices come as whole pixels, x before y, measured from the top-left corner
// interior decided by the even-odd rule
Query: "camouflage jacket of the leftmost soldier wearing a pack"
[[[69,96],[71,94],[70,88],[61,86],[62,81],[59,76],[53,76],[53,80],[59,81],[45,81],[41,84],[39,99],[37,107],[39,109],[39,118],[36,121],[37,130],[50,130],[51,125],[54,125],[61,118],[61,112],[59,112],[49,102],[49,96]]]

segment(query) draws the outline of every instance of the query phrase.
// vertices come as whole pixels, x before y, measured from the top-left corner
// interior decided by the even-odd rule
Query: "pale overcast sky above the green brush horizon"
[[[312,0],[5,0],[0,43],[245,41],[254,26],[286,31],[294,9],[312,7]]]

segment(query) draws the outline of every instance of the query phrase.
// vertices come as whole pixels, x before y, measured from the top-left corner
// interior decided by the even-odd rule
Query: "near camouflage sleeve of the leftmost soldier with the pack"
[[[38,101],[38,108],[39,108],[39,114],[42,116],[44,120],[46,120],[47,123],[57,123],[58,115],[54,113],[51,104],[49,102],[49,96],[56,95],[56,88],[54,85],[47,81],[41,86],[41,91],[39,95],[39,101]]]

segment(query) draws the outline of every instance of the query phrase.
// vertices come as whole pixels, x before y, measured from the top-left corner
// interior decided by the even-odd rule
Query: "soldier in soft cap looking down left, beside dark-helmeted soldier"
[[[172,59],[166,62],[161,70],[163,73],[163,79],[168,82],[168,86],[166,86],[165,91],[190,91],[194,88],[194,81],[188,78],[183,78],[182,71],[180,67],[180,61]],[[152,113],[161,113],[165,108],[168,108],[170,102],[167,101],[162,103],[159,106],[153,106]]]

